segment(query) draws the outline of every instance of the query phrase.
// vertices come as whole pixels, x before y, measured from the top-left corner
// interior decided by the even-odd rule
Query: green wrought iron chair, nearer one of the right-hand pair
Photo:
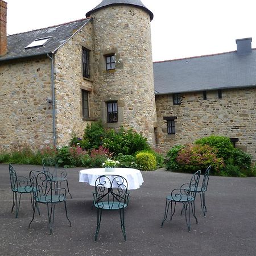
[[[171,194],[166,197],[166,209],[164,212],[164,218],[162,221],[162,228],[164,221],[166,221],[168,210],[171,203],[171,220],[172,216],[174,216],[176,203],[183,204],[183,209],[185,211],[185,220],[187,222],[188,226],[188,232],[190,232],[191,226],[190,226],[190,211],[192,210],[192,214],[196,219],[196,224],[198,223],[196,218],[196,212],[195,212],[195,199],[196,199],[196,189],[199,184],[200,179],[200,173],[201,171],[197,171],[193,176],[191,177],[191,181],[189,183],[189,187],[184,187],[181,185],[180,188],[172,190]],[[172,210],[172,203],[174,203],[174,210]],[[187,211],[188,211],[188,217],[187,217]]]

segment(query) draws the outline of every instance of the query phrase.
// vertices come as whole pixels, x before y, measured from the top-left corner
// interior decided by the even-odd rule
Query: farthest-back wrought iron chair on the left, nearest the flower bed
[[[56,188],[59,188],[61,186],[61,182],[63,181],[67,183],[68,193],[72,198],[68,187],[67,170],[65,170],[65,168],[57,167],[56,161],[53,158],[49,157],[44,158],[42,160],[42,164],[44,172],[50,177],[52,181],[55,181]]]

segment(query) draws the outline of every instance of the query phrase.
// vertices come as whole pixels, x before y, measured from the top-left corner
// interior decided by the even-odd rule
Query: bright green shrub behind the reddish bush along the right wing
[[[197,139],[195,141],[195,144],[200,144],[200,145],[209,145],[211,147],[217,148],[217,157],[218,158],[223,158],[224,161],[226,159],[229,159],[232,157],[233,154],[233,144],[230,141],[228,137],[222,137],[222,136],[209,136],[201,139]]]

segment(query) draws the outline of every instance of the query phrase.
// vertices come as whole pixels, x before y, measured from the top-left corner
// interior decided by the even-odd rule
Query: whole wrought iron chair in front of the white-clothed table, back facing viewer
[[[102,175],[95,182],[93,192],[93,205],[97,208],[97,227],[95,241],[101,225],[102,210],[119,210],[123,238],[126,241],[125,232],[125,208],[128,205],[129,192],[127,180],[119,175]]]

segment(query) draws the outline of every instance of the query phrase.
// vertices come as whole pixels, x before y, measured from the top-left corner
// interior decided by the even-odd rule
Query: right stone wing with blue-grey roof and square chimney
[[[231,138],[256,160],[256,49],[154,63],[158,146],[209,135]]]

